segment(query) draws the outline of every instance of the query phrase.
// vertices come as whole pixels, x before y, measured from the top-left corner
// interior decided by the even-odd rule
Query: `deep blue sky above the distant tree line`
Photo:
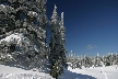
[[[118,0],[47,0],[64,13],[67,50],[76,55],[118,53]]]

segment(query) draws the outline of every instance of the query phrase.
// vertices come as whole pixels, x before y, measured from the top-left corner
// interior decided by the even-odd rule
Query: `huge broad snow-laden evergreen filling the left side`
[[[0,48],[16,56],[15,47],[26,60],[40,65],[47,53],[46,48],[46,0],[0,0]],[[3,38],[13,38],[3,41]],[[19,42],[19,43],[17,43]],[[4,50],[8,48],[8,50]],[[5,56],[4,55],[4,56]],[[3,55],[2,55],[3,56]]]

